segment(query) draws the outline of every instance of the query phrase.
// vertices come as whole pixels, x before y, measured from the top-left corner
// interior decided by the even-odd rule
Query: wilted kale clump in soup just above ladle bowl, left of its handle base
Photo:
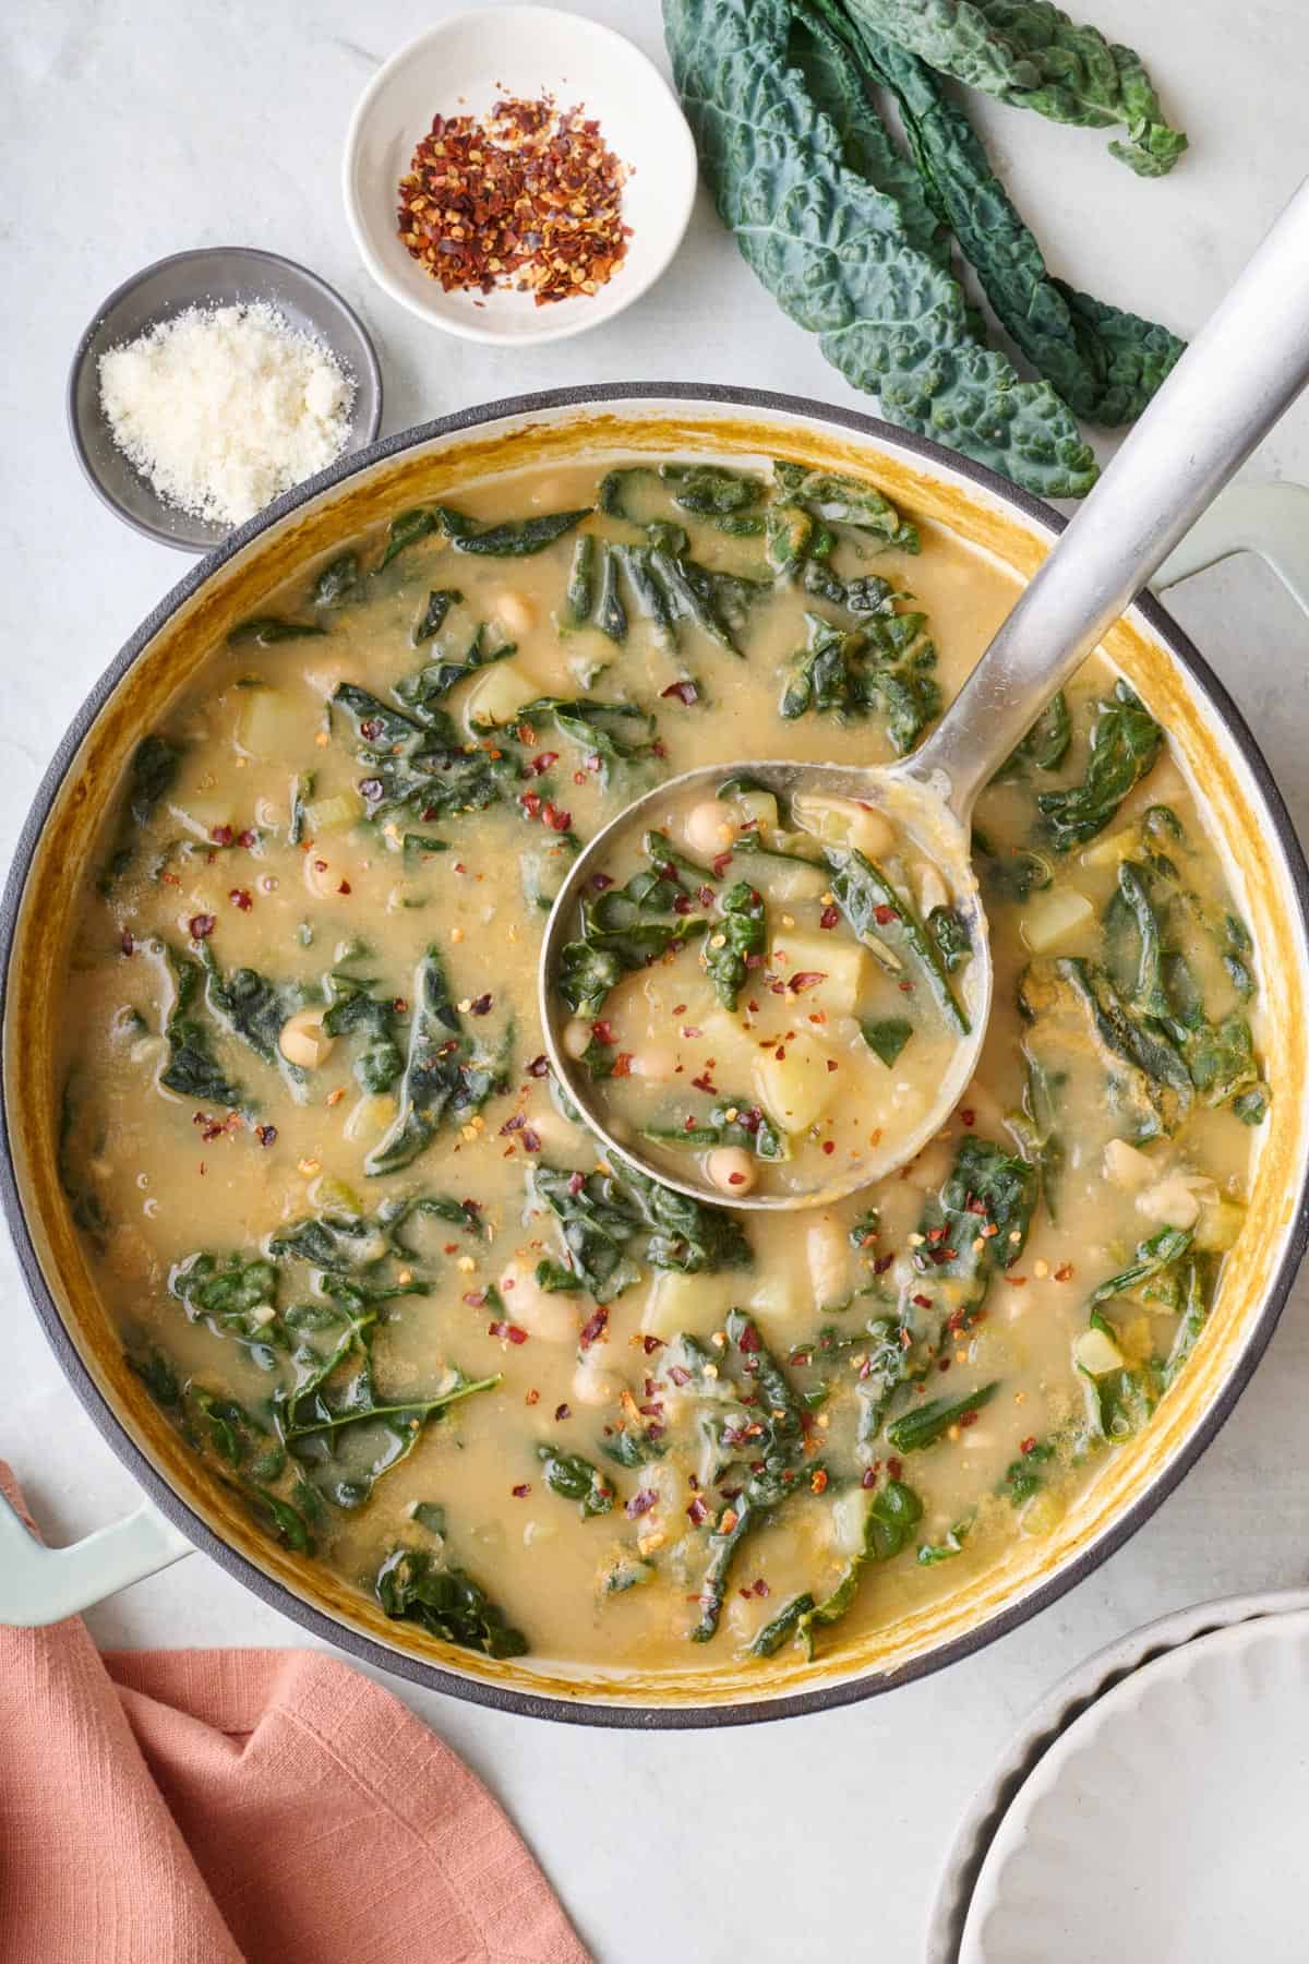
[[[875,615],[846,630],[807,613],[805,632],[805,646],[783,670],[781,715],[793,721],[814,709],[840,723],[881,715],[895,750],[901,756],[913,750],[940,715],[926,615]]]

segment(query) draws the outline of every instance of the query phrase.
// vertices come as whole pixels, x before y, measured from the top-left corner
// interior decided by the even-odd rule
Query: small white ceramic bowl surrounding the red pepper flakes
[[[581,104],[630,167],[626,259],[593,295],[538,306],[530,293],[444,293],[400,244],[398,183],[432,118],[485,114],[502,96]],[[451,14],[379,69],[345,139],[345,216],[369,273],[393,300],[471,342],[530,348],[612,320],[677,251],[695,200],[695,141],[659,71],[610,27],[548,6]]]

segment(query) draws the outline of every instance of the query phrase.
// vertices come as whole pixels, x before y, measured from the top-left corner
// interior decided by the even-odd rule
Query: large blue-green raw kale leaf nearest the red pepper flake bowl
[[[1046,497],[1079,497],[1095,460],[1048,383],[977,346],[964,293],[899,204],[858,175],[789,59],[789,0],[665,0],[701,167],[763,285],[856,389],[903,428]],[[871,114],[871,112],[869,112]],[[916,232],[916,238],[915,238]]]

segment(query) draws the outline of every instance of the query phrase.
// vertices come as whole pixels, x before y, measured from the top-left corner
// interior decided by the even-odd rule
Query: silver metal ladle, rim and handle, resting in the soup
[[[750,1192],[734,1208],[787,1210],[826,1204],[885,1178],[942,1127],[968,1086],[991,1009],[991,949],[971,868],[969,821],[981,788],[1028,733],[1058,687],[1091,654],[1195,518],[1244,464],[1309,381],[1309,181],[1282,212],[1219,310],[1136,420],[1130,436],[1019,595],[1013,613],[960,689],[946,717],[913,756],[891,766],[742,762],[707,764],[638,797],[577,854],[546,923],[540,1011],[559,1084],[604,1147],[665,1186],[722,1204],[716,1186],[673,1176],[612,1135],[597,1112],[593,1080],[563,1051],[569,1021],[555,980],[577,901],[626,835],[652,811],[689,791],[712,795],[738,772],[781,797],[799,791],[854,797],[887,809],[940,868],[954,903],[969,915],[969,1033],[932,1110],[885,1137],[848,1173],[807,1192]]]

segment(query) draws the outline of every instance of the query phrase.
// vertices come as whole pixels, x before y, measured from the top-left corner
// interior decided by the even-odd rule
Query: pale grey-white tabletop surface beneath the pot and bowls
[[[1193,330],[1305,167],[1303,0],[1087,0],[1142,49],[1193,153],[1162,185],[1097,134],[993,108],[981,120],[1052,263]],[[642,0],[587,12],[661,59]],[[724,379],[860,403],[738,261],[701,200],[671,273],[612,326],[530,355],[445,340],[379,295],[338,196],[349,108],[430,14],[400,0],[10,0],[0,18],[0,850],[86,687],[184,562],[84,489],[63,428],[65,363],[96,302],[147,259],[249,244],[304,259],[363,312],[387,430],[479,399],[595,379]],[[1248,475],[1309,481],[1309,405]],[[1309,628],[1250,560],[1178,597],[1309,821]],[[75,1404],[0,1249],[0,1451],[47,1530],[71,1536],[133,1487]],[[1172,1607],[1301,1583],[1309,1563],[1303,1288],[1219,1442],[1099,1573],[969,1664],[893,1697],[734,1732],[632,1736],[408,1699],[502,1797],[595,1952],[728,1964],[824,1954],[913,1964],[964,1795],[1013,1720],[1091,1648]],[[92,1614],[104,1644],[300,1644],[204,1555]],[[1158,1797],[1158,1805],[1164,1803]],[[1150,1801],[1142,1797],[1148,1821]]]

